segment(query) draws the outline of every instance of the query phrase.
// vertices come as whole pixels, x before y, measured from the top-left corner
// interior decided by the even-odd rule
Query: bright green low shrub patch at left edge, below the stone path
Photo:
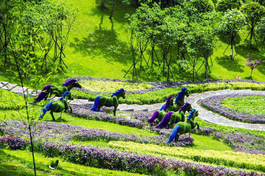
[[[19,110],[25,106],[22,96],[0,89],[0,110]]]

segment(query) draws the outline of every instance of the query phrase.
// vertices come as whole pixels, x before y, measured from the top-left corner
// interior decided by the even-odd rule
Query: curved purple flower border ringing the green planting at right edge
[[[265,124],[265,115],[261,114],[248,114],[244,112],[239,112],[236,110],[232,110],[230,108],[222,105],[221,101],[228,97],[241,97],[241,96],[264,96],[263,94],[253,94],[253,93],[232,93],[225,95],[216,95],[205,98],[202,100],[202,106],[206,107],[211,111],[215,111],[220,113],[221,115],[240,122],[253,123],[253,124]]]

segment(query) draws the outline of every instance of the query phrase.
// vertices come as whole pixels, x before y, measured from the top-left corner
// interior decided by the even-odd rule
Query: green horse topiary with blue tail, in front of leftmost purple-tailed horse
[[[71,95],[71,93],[69,91],[63,92],[63,95],[61,95],[61,98],[59,98],[56,102],[49,102],[47,103],[47,105],[45,107],[42,108],[41,110],[41,114],[39,119],[42,119],[42,117],[44,116],[44,114],[50,110],[50,114],[52,116],[53,121],[55,121],[53,112],[61,112],[64,110],[64,112],[66,112],[66,110],[68,110],[70,108],[70,112],[72,112],[72,108],[70,105],[68,105],[67,100],[68,97]],[[61,116],[60,116],[61,118]]]

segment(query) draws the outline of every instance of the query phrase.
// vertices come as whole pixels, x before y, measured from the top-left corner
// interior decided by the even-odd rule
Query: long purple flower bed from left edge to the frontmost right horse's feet
[[[170,133],[164,133],[159,136],[145,136],[136,134],[124,134],[120,132],[109,132],[102,129],[90,129],[80,126],[74,126],[64,123],[44,122],[41,121],[37,127],[32,125],[32,132],[35,138],[50,139],[57,138],[61,140],[98,140],[104,139],[107,142],[111,140],[132,141],[138,143],[149,143],[156,145],[166,145],[166,141]],[[36,129],[36,130],[35,130]],[[24,136],[29,137],[26,125],[21,120],[0,121],[0,131],[8,136]],[[191,145],[193,138],[188,135],[182,135],[179,142],[171,143],[171,146],[183,147]]]

